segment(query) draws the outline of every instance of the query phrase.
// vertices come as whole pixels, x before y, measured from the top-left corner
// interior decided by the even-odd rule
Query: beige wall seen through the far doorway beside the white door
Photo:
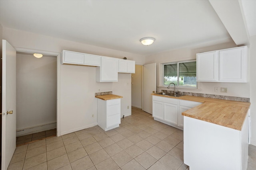
[[[132,74],[132,106],[142,109],[142,65],[135,65]]]

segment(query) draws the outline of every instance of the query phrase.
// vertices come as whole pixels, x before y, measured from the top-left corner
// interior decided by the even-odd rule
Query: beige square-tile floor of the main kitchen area
[[[120,127],[95,126],[16,148],[8,170],[189,170],[183,163],[183,131],[132,107]],[[256,169],[250,145],[248,170]]]

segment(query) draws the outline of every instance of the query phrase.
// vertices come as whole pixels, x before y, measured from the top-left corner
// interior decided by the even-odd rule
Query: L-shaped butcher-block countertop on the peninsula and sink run
[[[202,121],[208,121],[210,123],[229,127],[239,131],[242,129],[244,120],[250,107],[249,102],[237,102],[196,96],[180,96],[177,98],[160,94],[152,95],[201,102],[203,104],[192,109],[188,109],[187,111],[183,112],[182,115]]]

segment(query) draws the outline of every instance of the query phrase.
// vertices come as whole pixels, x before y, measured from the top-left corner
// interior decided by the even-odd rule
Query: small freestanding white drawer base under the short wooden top
[[[119,127],[121,123],[121,99],[97,99],[98,126],[104,131]]]

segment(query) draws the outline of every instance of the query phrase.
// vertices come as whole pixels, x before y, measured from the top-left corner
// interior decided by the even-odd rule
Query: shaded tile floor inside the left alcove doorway
[[[26,143],[31,143],[33,141],[42,140],[47,137],[53,137],[56,136],[57,129],[51,129],[48,131],[33,133],[30,135],[24,135],[20,137],[16,137],[16,146],[24,145]]]

